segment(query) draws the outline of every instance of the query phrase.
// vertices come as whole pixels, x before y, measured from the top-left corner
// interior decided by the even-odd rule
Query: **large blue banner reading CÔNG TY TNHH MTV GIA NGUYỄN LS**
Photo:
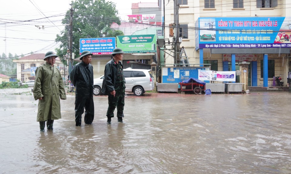
[[[291,47],[291,17],[199,18],[198,24],[199,48]]]

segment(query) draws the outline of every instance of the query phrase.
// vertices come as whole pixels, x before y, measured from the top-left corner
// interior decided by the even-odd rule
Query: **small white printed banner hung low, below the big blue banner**
[[[221,81],[221,82],[235,82],[236,72],[235,71],[208,71],[198,70],[199,80],[208,81]]]

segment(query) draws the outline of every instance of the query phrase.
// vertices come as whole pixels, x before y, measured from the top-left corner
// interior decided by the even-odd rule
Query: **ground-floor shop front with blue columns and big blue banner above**
[[[290,21],[290,17],[199,18],[196,50],[200,63],[210,60],[217,63],[217,70],[236,71],[239,77],[239,63],[247,62],[248,86],[271,86],[273,77],[279,75],[287,83]],[[213,22],[211,29],[209,22]]]

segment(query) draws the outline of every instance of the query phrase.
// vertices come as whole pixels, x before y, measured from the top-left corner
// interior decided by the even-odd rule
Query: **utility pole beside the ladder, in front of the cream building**
[[[180,64],[180,42],[179,42],[179,3],[178,0],[174,0],[174,24],[176,33],[173,38],[174,43],[174,63],[176,66]]]

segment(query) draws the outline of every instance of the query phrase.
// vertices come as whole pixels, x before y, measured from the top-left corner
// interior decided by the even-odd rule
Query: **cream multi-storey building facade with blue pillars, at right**
[[[249,63],[249,86],[271,86],[273,85],[273,76],[282,75],[284,84],[287,83],[288,71],[290,71],[290,34],[291,27],[287,27],[289,22],[289,7],[291,4],[287,0],[177,0],[179,3],[179,37],[182,37],[180,47],[184,47],[187,53],[190,64],[211,64],[211,70],[216,71],[236,71],[239,69],[239,63],[245,61]],[[165,38],[169,38],[172,42],[173,31],[171,26],[175,22],[174,4],[175,1],[169,1],[165,4]],[[172,10],[168,10],[172,9]],[[279,39],[272,39],[270,43],[279,43],[278,47],[259,48],[253,46],[256,40],[248,41],[247,46],[238,48],[215,48],[215,47],[201,47],[203,39],[206,41],[213,41],[219,43],[218,33],[219,21],[221,19],[233,18],[242,19],[241,21],[249,20],[255,21],[255,18],[285,18],[286,29],[281,27],[279,31],[273,30],[270,35],[278,33]],[[204,28],[198,24],[202,19],[214,19],[212,21],[204,22]],[[286,20],[287,19],[287,20]],[[233,20],[235,21],[235,20]],[[278,23],[282,21],[278,20]],[[290,21],[291,24],[291,21]],[[221,25],[222,26],[222,25]],[[290,25],[291,26],[291,25]],[[216,35],[204,35],[201,39],[203,31],[212,31]],[[233,28],[229,29],[232,31]],[[174,28],[174,32],[175,28]],[[223,31],[222,31],[223,32]],[[226,31],[227,32],[227,31]],[[263,33],[262,31],[260,31]],[[285,34],[286,32],[286,34]],[[211,33],[211,32],[210,32]],[[290,33],[290,34],[287,34]],[[237,32],[238,37],[246,36],[248,33],[243,33],[242,30]],[[275,36],[276,36],[275,35]],[[288,35],[288,38],[281,35]],[[209,38],[207,38],[209,37]],[[268,34],[266,34],[268,37]],[[278,37],[277,37],[278,38]],[[259,40],[259,39],[258,39]],[[223,41],[221,40],[221,43]],[[289,43],[288,43],[289,42]],[[229,40],[229,43],[232,41]],[[282,45],[285,44],[286,46]],[[167,45],[167,44],[166,44]],[[211,44],[210,44],[211,45]],[[252,45],[249,46],[248,45]],[[200,47],[199,47],[200,46]],[[170,44],[169,46],[170,47]],[[171,53],[170,53],[171,54]],[[248,57],[248,59],[245,59]],[[165,59],[166,64],[173,64],[174,58]],[[264,65],[266,65],[264,67]],[[239,78],[237,78],[239,80]],[[239,82],[239,81],[237,81]]]

